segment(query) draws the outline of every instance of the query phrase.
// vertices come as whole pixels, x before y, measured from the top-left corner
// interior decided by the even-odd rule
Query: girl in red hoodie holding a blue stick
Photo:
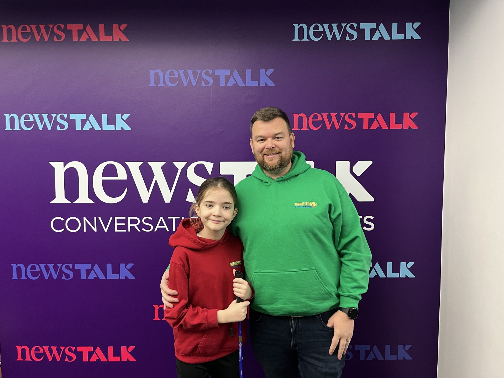
[[[183,219],[170,237],[170,288],[178,302],[164,317],[173,327],[178,378],[236,378],[238,326],[254,290],[235,270],[243,270],[243,245],[227,225],[238,198],[224,177],[209,178],[191,206],[199,218]],[[244,301],[236,303],[235,296]],[[242,331],[243,332],[243,331]],[[244,333],[243,333],[244,335]],[[243,338],[244,342],[244,338]]]

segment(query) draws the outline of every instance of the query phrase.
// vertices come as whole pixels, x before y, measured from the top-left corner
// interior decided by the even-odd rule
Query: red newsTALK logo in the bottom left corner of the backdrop
[[[104,349],[94,346],[40,346],[16,345],[18,358],[16,361],[49,360],[54,362],[125,362],[136,361],[130,353],[134,346],[105,347]]]

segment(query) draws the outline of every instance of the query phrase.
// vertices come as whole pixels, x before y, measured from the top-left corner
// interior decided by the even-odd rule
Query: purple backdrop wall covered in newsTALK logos
[[[371,278],[344,376],[435,376],[449,3],[254,3],[0,5],[6,378],[176,376],[167,241],[203,179],[251,170],[264,106],[362,216]]]

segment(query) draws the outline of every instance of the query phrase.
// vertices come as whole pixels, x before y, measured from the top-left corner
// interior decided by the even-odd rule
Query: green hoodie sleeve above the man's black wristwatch
[[[359,215],[350,196],[338,181],[341,212],[333,207],[336,250],[340,254],[340,307],[358,307],[361,295],[367,291],[371,251],[360,225]],[[339,234],[339,238],[336,238]]]

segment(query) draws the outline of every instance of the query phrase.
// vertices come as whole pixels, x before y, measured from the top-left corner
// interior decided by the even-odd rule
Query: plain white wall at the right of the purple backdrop
[[[504,0],[451,1],[439,378],[504,376],[503,28]]]

